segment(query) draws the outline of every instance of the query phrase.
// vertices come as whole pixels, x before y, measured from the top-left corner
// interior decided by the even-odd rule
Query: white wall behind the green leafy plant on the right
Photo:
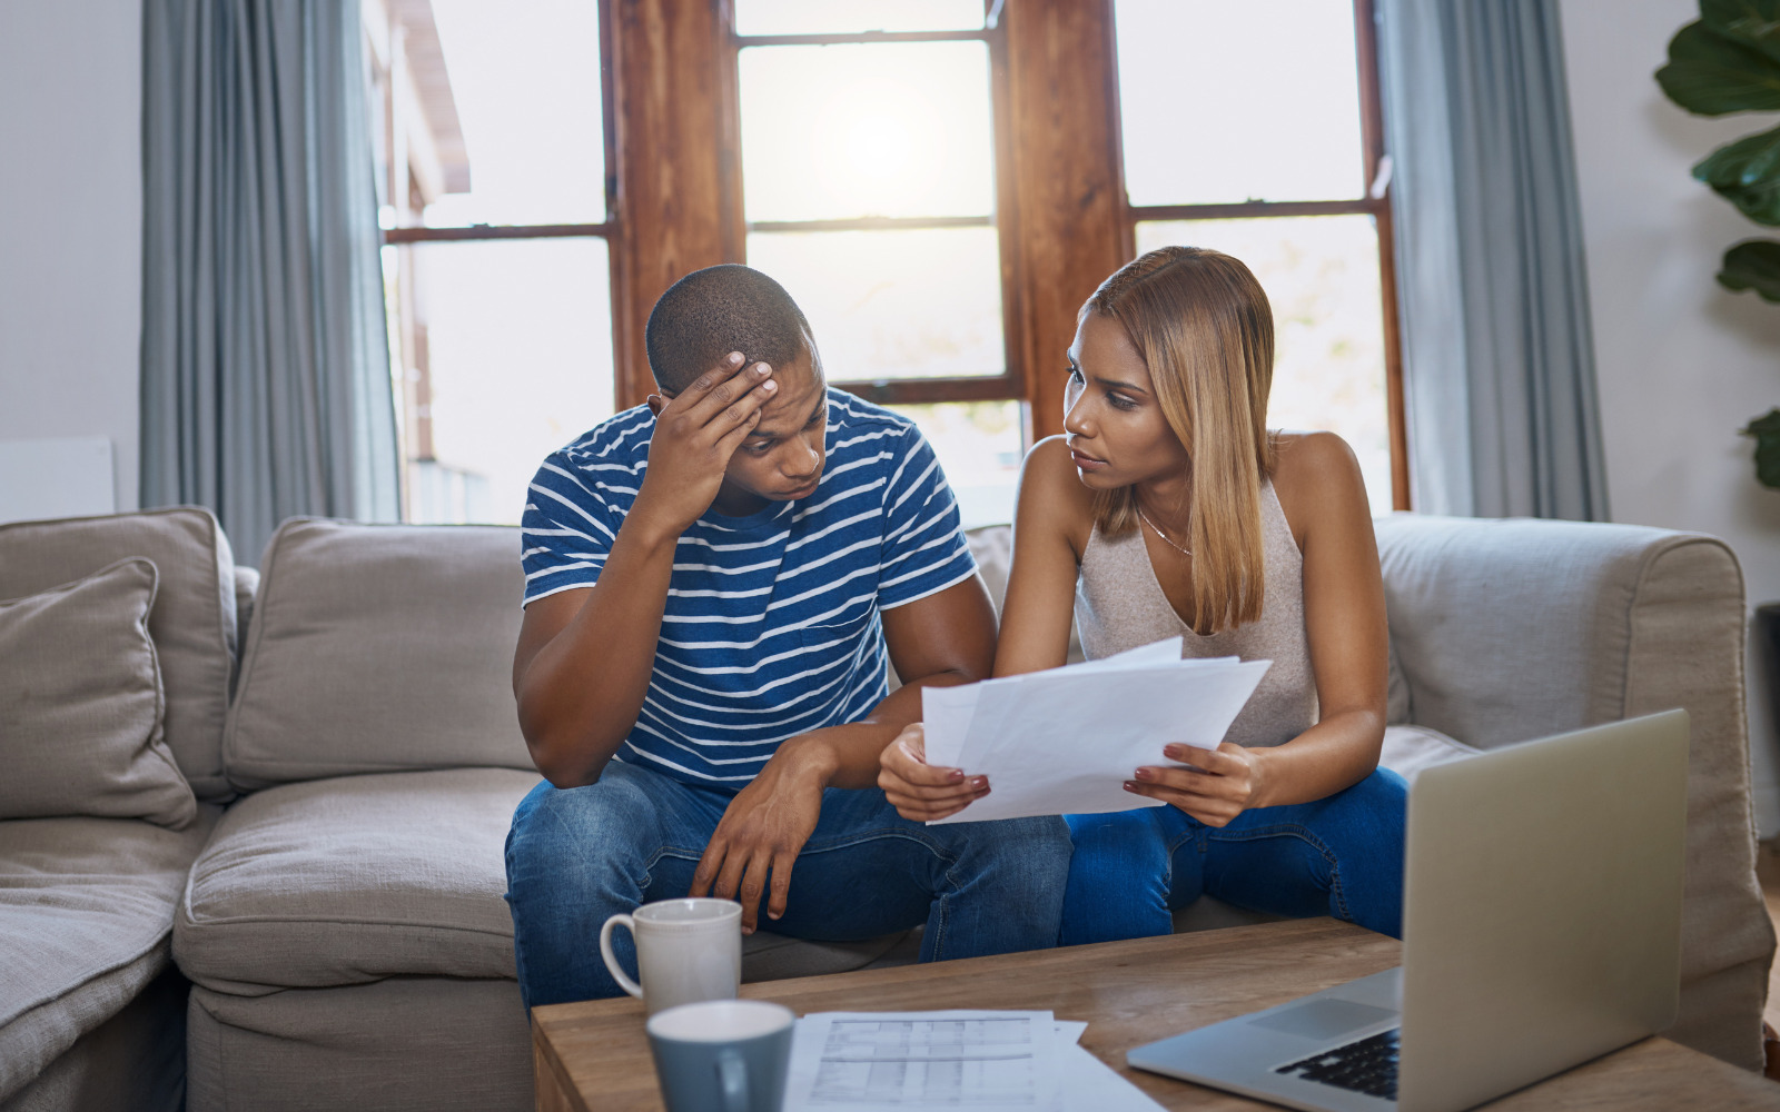
[[[1712,281],[1725,247],[1764,230],[1687,173],[1775,121],[1689,116],[1652,80],[1695,0],[1561,0],[1561,14],[1613,518],[1716,534],[1750,603],[1780,600],[1780,491],[1755,482],[1736,436],[1780,406],[1780,306]],[[1771,836],[1780,761],[1760,667],[1752,653],[1755,810]]]

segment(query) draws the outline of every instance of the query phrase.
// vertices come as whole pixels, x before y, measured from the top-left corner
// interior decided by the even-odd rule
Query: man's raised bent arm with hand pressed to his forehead
[[[650,466],[593,587],[525,608],[513,653],[520,729],[559,788],[600,779],[630,735],[655,669],[680,534],[717,496],[723,471],[776,384],[740,354],[700,375],[655,418]]]

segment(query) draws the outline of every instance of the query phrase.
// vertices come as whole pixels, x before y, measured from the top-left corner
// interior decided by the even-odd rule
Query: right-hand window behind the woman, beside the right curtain
[[[1408,509],[1371,2],[1114,0],[1132,254],[1226,251],[1273,302],[1267,423],[1331,429]]]

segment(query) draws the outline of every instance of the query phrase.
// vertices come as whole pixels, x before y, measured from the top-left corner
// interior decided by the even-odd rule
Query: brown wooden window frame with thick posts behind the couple
[[[1374,0],[1353,0],[1367,181],[1385,130]],[[1025,439],[1063,432],[1064,351],[1095,286],[1136,254],[1137,221],[1369,214],[1378,226],[1385,393],[1396,509],[1410,507],[1388,183],[1353,201],[1132,206],[1125,196],[1112,0],[986,0],[965,32],[737,36],[732,0],[600,0],[607,219],[598,224],[392,228],[384,244],[602,237],[611,256],[618,409],[655,390],[643,334],[689,270],[746,260],[737,57],[744,46],[984,41],[995,128],[995,214],[756,222],[760,231],[991,222],[1000,240],[1002,374],[837,383],[885,404],[1020,400]]]

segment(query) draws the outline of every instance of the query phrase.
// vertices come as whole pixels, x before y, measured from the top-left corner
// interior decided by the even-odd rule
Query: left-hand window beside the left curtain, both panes
[[[614,413],[600,9],[367,0],[409,521],[518,523]]]

